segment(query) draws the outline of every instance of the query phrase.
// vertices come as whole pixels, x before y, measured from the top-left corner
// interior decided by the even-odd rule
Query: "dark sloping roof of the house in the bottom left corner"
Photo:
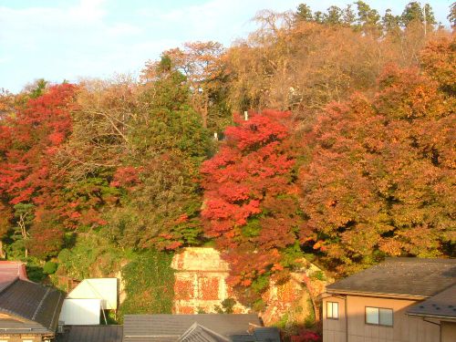
[[[0,312],[25,318],[34,329],[38,325],[53,333],[63,299],[64,295],[54,288],[16,279],[0,292]]]

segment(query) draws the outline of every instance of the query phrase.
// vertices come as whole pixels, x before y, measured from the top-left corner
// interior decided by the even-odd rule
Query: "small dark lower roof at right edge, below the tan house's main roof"
[[[456,285],[434,295],[417,305],[411,306],[407,314],[413,316],[456,318]]]

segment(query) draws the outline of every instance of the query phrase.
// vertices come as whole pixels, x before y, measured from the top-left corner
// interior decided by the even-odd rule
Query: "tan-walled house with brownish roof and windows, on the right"
[[[455,285],[456,259],[388,258],[326,286],[323,341],[454,342]]]

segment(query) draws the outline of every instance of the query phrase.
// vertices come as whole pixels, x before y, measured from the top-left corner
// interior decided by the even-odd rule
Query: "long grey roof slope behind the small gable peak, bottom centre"
[[[175,342],[194,323],[223,337],[249,335],[252,326],[262,326],[258,316],[249,315],[126,315],[123,341]]]

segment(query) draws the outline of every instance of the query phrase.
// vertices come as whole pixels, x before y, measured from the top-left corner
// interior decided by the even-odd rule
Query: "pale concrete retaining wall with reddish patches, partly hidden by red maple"
[[[230,267],[223,261],[220,253],[213,248],[190,247],[181,254],[175,254],[171,267],[176,270],[174,283],[173,312],[175,314],[195,314],[198,310],[214,312],[215,306],[221,306],[225,298],[234,298],[233,289],[227,284]],[[309,267],[310,272],[318,269]],[[268,291],[263,294],[265,310],[261,314],[264,324],[277,322],[285,313],[297,323],[303,323],[308,309],[306,282],[309,277],[303,274],[292,274],[290,280],[280,285],[271,282]],[[317,281],[312,288],[321,293],[325,285]],[[304,299],[304,300],[303,300]],[[293,308],[299,306],[296,315]],[[235,313],[247,313],[247,307],[237,303]],[[297,314],[299,312],[299,314]]]

